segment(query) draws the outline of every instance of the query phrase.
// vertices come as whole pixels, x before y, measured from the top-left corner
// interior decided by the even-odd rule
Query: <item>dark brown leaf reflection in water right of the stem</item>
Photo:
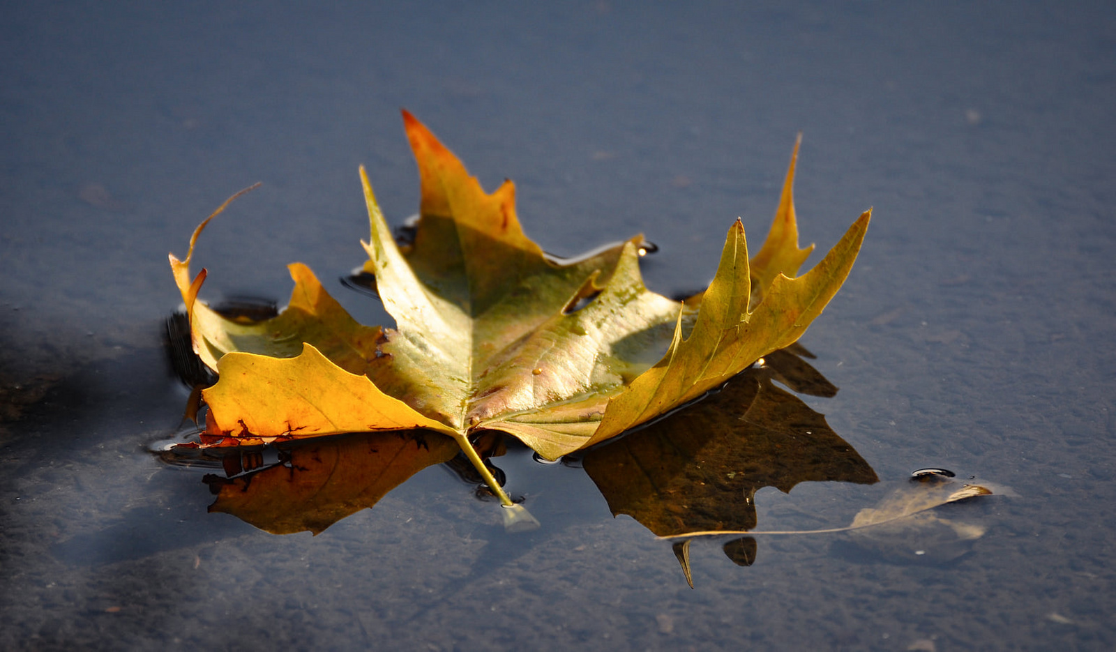
[[[763,487],[876,482],[864,458],[775,376],[750,368],[699,404],[586,453],[613,515],[661,537],[750,530]]]

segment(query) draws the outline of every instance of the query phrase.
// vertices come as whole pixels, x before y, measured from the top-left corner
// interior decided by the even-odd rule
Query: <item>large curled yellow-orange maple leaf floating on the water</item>
[[[548,256],[523,233],[510,181],[485,193],[403,117],[422,193],[413,244],[397,246],[360,169],[364,270],[394,328],[356,323],[300,263],[273,318],[230,319],[200,301],[205,270],[191,279],[190,261],[224,205],[194,231],[184,260],[170,257],[193,348],[219,376],[202,393],[202,445],[431,429],[454,438],[511,506],[470,435],[504,431],[556,459],[700,397],[802,335],[847,277],[870,218],[796,277],[810,251],[798,248],[796,144],[759,253],[749,260],[737,220],[709,289],[679,304],[644,286],[641,236],[576,259]]]

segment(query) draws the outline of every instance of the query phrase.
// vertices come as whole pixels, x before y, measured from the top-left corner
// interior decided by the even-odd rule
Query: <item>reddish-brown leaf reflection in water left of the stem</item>
[[[376,505],[411,476],[451,460],[458,444],[430,431],[364,433],[276,447],[278,463],[247,473],[228,460],[223,478],[204,478],[217,493],[210,511],[231,514],[271,534],[317,535],[338,520]],[[252,459],[256,453],[246,453]]]

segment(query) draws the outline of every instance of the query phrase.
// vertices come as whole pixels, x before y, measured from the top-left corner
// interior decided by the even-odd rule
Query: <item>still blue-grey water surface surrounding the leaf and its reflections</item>
[[[1110,119],[1103,2],[560,8],[56,3],[0,27],[0,613],[6,649],[1108,650]],[[208,296],[285,297],[285,266],[360,263],[364,163],[417,208],[406,107],[529,236],[571,256],[643,232],[648,285],[703,287],[738,215],[757,242],[795,135],[802,238],[869,205],[804,338],[806,401],[884,482],[944,467],[1017,498],[954,506],[955,559],[768,538],[740,567],[613,519],[586,473],[501,461],[542,527],[431,467],[323,534],[223,514],[146,452],[185,390],[162,348],[166,252],[206,231]],[[334,286],[360,318],[382,319]],[[763,489],[759,522],[841,520],[876,489]],[[901,544],[899,544],[901,545]]]

